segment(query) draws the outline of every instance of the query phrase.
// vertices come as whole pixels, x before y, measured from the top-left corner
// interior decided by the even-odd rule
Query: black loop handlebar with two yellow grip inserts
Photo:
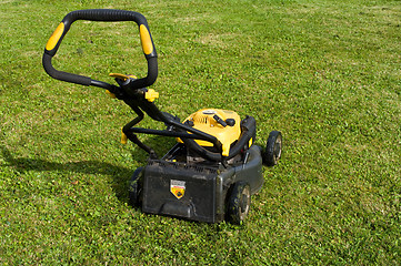
[[[77,10],[68,13],[60,24],[57,27],[53,34],[50,37],[49,41],[46,44],[43,53],[43,68],[46,72],[58,80],[72,82],[82,85],[96,85],[104,89],[112,86],[106,82],[96,81],[88,76],[67,73],[63,71],[56,70],[51,63],[51,59],[57,53],[62,39],[70,30],[71,24],[77,20],[90,20],[90,21],[134,21],[139,25],[139,33],[141,38],[141,45],[144,57],[148,61],[148,75],[146,78],[136,80],[132,83],[132,89],[140,89],[149,86],[154,83],[158,76],[158,54],[153,44],[152,37],[149,31],[149,25],[147,19],[138,12],[127,11],[127,10],[114,10],[114,9],[88,9],[88,10]]]

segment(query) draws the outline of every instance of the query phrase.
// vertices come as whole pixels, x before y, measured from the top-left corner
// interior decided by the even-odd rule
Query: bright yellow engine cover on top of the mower
[[[232,119],[235,121],[235,123],[232,126],[222,126],[213,119],[214,115],[218,115],[223,121]],[[241,135],[241,119],[240,115],[233,111],[221,109],[202,109],[188,116],[184,122],[187,121],[193,123],[193,129],[215,136],[222,144],[223,156],[228,156],[230,154],[231,144],[238,141]],[[180,139],[178,139],[178,141],[182,143]],[[213,146],[213,144],[208,141],[196,140],[196,142],[201,146]]]

